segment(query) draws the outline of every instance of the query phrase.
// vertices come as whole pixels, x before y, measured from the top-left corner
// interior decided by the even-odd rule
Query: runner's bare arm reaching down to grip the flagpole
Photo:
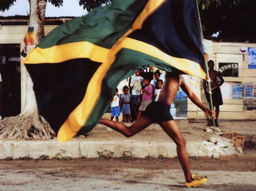
[[[186,93],[188,98],[190,98],[190,100],[194,104],[196,104],[196,106],[198,106],[200,109],[202,109],[205,112],[205,114],[207,114],[209,116],[214,115],[214,117],[215,117],[215,113],[212,110],[210,110],[204,106],[204,104],[198,99],[198,97],[191,91],[191,89],[185,83],[184,78],[181,75],[180,75],[180,80],[181,80],[180,87]]]

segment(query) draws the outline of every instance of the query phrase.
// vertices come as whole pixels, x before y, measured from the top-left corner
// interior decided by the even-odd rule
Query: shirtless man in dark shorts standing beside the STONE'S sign
[[[214,70],[214,61],[209,60],[208,67],[209,67],[209,77],[211,79],[210,85],[211,85],[211,91],[212,91],[212,102],[213,102],[213,106],[215,106],[215,112],[216,112],[215,126],[218,127],[219,126],[218,116],[220,113],[220,105],[223,105],[220,86],[224,83],[224,79],[222,78],[220,72]],[[217,79],[220,80],[220,83],[217,82]],[[207,101],[210,103],[209,88],[207,88],[206,86],[206,80],[204,80],[204,92],[205,92]],[[213,124],[212,122],[210,122],[208,125],[212,126]]]

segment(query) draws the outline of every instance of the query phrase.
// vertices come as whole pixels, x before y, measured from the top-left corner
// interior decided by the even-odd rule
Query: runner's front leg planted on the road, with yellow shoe
[[[187,187],[197,187],[203,183],[206,183],[207,177],[195,177],[190,172],[188,155],[186,152],[186,141],[180,134],[180,130],[174,120],[164,121],[159,123],[163,130],[172,138],[177,148],[177,155],[182,166]]]

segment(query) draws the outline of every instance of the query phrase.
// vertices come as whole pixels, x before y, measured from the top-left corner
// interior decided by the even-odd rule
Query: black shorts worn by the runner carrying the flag
[[[150,103],[142,115],[147,116],[154,123],[173,120],[170,106],[161,101]]]

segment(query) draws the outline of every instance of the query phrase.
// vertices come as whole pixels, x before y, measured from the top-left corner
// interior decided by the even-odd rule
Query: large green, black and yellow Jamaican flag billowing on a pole
[[[153,65],[205,78],[196,0],[116,0],[66,22],[24,59],[58,141],[86,134],[118,83]]]

